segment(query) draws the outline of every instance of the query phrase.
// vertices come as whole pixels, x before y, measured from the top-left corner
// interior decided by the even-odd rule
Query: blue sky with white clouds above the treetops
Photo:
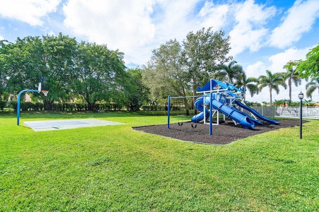
[[[304,60],[319,43],[319,0],[0,0],[0,40],[63,35],[106,44],[125,54],[128,68],[150,60],[170,39],[205,27],[230,36],[229,55],[247,77],[285,72],[290,60]],[[207,79],[207,82],[209,79]],[[292,101],[306,94],[306,81],[292,87]],[[289,91],[273,91],[273,101]],[[305,95],[306,100],[310,100]],[[312,97],[319,102],[318,90]],[[249,102],[270,102],[268,88]]]

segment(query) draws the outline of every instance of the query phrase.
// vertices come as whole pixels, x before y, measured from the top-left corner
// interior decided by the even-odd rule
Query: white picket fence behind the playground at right
[[[298,106],[252,106],[252,108],[266,117],[299,118],[300,107]],[[245,109],[244,112],[250,114],[250,112]],[[319,119],[319,107],[303,106],[303,118]]]

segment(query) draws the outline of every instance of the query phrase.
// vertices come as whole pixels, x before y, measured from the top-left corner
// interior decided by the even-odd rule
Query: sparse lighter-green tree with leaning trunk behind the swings
[[[143,82],[149,88],[153,100],[170,96],[186,96],[188,90],[187,72],[183,69],[182,50],[179,42],[169,40],[152,51],[151,60],[143,71]],[[186,114],[188,103],[184,98]]]

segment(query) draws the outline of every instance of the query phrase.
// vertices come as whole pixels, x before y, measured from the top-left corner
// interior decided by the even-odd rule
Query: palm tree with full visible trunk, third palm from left
[[[276,94],[279,94],[279,86],[283,86],[287,89],[287,84],[285,83],[285,74],[284,73],[275,73],[272,74],[271,71],[266,70],[267,76],[259,76],[259,90],[263,88],[269,88],[270,95],[270,106],[272,106],[272,91],[275,90]]]

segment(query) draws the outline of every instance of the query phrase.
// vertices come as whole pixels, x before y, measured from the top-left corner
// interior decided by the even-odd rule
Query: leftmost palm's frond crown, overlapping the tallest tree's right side
[[[236,61],[231,61],[228,65],[221,64],[217,66],[212,77],[219,81],[233,84],[233,79],[238,80],[244,73],[241,65],[236,65]]]

